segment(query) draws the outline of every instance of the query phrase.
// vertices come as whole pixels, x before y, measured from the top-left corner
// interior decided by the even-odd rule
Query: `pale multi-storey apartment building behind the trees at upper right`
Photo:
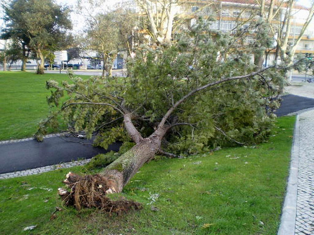
[[[260,2],[260,1],[259,1]],[[267,4],[268,3],[268,4]],[[265,1],[267,11],[269,1]],[[278,8],[274,8],[276,11]],[[291,27],[288,37],[288,46],[293,46],[300,35],[303,24],[309,15],[308,8],[294,4],[292,9]],[[210,16],[215,19],[211,24],[211,29],[232,33],[239,21],[245,22],[249,18],[259,18],[260,6],[257,0],[191,0],[181,6],[181,17],[187,19],[187,24],[194,24],[195,16]],[[281,24],[284,21],[287,5],[284,4],[279,9],[279,14],[273,19],[272,24]],[[242,25],[245,27],[245,24]],[[286,30],[286,29],[284,29]],[[248,36],[247,41],[254,40],[254,36]],[[274,42],[275,45],[275,42]],[[314,55],[314,21],[310,23],[295,51],[297,54]],[[267,64],[269,65],[275,58],[275,51],[269,51]],[[267,66],[267,65],[266,65]]]

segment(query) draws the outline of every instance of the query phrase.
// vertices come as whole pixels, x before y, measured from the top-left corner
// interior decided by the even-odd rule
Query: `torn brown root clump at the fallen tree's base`
[[[59,195],[66,206],[74,206],[77,210],[82,208],[97,208],[103,212],[123,213],[131,210],[140,210],[142,205],[138,202],[125,199],[111,200],[106,196],[114,189],[106,184],[107,179],[99,174],[80,176],[69,172],[63,182],[71,190],[59,188]]]

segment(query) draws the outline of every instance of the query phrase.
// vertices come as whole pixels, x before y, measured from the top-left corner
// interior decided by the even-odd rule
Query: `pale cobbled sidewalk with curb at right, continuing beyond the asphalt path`
[[[314,98],[314,84],[301,85],[294,84],[286,91]],[[278,235],[314,235],[314,110],[297,116]]]

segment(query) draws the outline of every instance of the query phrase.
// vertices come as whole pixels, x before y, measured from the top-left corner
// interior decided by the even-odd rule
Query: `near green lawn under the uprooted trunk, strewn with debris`
[[[121,193],[144,208],[123,215],[62,207],[57,188],[69,169],[0,180],[0,234],[275,235],[294,121],[279,118],[270,140],[257,146],[145,164]],[[50,221],[55,206],[63,210]]]

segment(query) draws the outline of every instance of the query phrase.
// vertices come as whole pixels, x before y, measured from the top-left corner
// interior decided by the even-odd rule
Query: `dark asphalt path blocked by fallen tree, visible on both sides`
[[[275,112],[278,117],[314,107],[314,99],[284,95],[281,107]],[[99,153],[117,151],[121,143],[114,143],[108,150],[93,147],[90,141],[74,137],[51,137],[43,142],[35,140],[0,144],[0,174],[47,165],[92,158]]]

